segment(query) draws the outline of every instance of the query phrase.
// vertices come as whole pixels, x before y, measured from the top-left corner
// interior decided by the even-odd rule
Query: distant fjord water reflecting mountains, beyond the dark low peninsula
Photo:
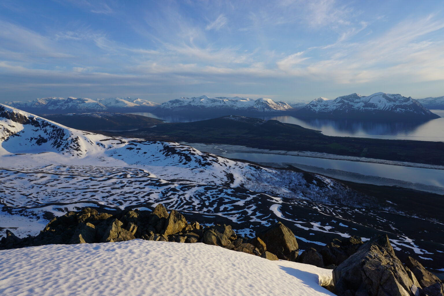
[[[322,134],[329,136],[417,141],[444,141],[444,110],[431,111],[437,115],[440,115],[441,118],[436,118],[423,122],[381,122],[358,121],[350,119],[309,119],[296,118],[289,115],[256,115],[254,117],[262,118],[265,120],[274,119],[280,122],[297,124],[313,130],[321,130]],[[165,120],[166,122],[191,122],[217,118],[221,116],[220,114],[208,116],[186,116],[140,112],[132,114],[159,118]]]

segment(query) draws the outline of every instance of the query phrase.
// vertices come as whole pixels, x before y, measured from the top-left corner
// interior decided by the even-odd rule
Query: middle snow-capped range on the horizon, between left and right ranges
[[[160,105],[163,112],[283,112],[291,111],[293,107],[285,102],[274,102],[272,99],[249,99],[242,97],[210,98],[206,95],[192,98],[179,98]]]

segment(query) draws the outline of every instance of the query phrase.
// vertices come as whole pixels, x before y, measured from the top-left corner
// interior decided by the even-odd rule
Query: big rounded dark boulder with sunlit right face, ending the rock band
[[[259,233],[258,237],[264,241],[267,250],[274,253],[277,258],[296,261],[299,251],[296,238],[293,232],[281,222]]]

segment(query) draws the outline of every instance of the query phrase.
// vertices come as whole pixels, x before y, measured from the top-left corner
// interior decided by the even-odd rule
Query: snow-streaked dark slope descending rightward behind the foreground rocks
[[[384,231],[397,250],[442,268],[436,262],[444,258],[442,241],[428,234],[444,237],[437,217],[404,212],[322,175],[238,162],[175,142],[74,130],[0,105],[0,230],[36,235],[54,215],[83,206],[159,203],[247,236],[282,221],[304,248]]]

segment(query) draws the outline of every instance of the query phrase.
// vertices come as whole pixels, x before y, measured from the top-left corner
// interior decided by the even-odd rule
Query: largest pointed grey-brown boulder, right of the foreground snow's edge
[[[337,295],[420,295],[420,287],[409,277],[386,235],[367,241],[337,266],[333,282]]]

